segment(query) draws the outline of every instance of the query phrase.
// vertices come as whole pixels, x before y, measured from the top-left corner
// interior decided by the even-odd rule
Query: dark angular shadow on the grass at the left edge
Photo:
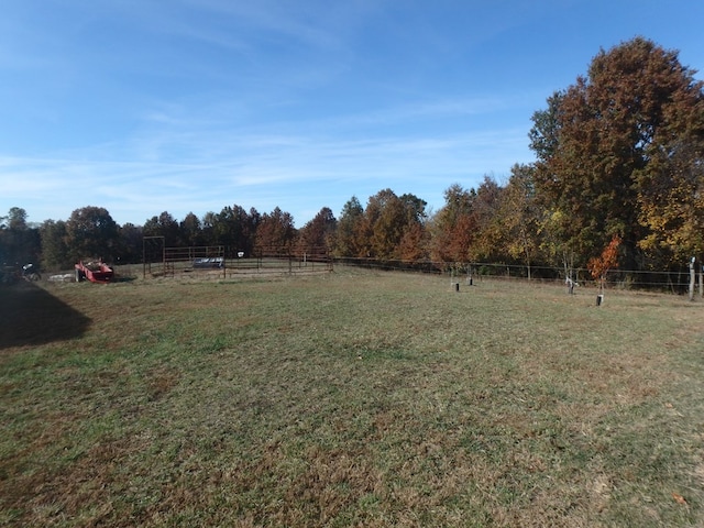
[[[25,282],[0,286],[0,350],[81,336],[90,319]]]

